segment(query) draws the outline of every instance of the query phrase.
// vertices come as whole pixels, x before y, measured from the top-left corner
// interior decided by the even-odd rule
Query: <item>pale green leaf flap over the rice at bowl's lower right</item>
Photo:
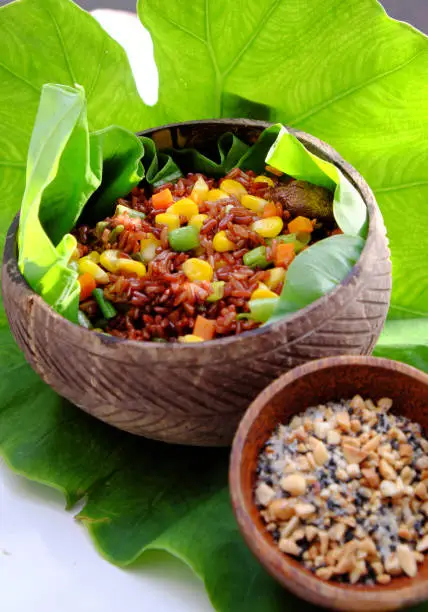
[[[357,263],[364,244],[360,236],[331,236],[302,251],[288,268],[287,280],[268,323],[333,291]]]

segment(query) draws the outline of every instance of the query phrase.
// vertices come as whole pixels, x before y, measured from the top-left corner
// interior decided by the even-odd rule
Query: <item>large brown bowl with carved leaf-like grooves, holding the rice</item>
[[[207,151],[224,132],[253,143],[268,125],[243,119],[193,121],[144,134],[160,149]],[[231,443],[248,404],[285,370],[322,356],[369,354],[391,291],[379,208],[363,178],[331,147],[295,133],[311,151],[336,164],[367,204],[367,243],[337,289],[287,320],[237,337],[192,345],[120,340],[69,323],[28,287],[17,266],[16,219],[4,254],[4,304],[19,346],[43,380],[126,431],[166,442],[223,446]]]

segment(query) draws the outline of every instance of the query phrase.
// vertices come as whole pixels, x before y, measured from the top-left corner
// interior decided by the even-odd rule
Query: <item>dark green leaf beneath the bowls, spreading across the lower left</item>
[[[145,550],[165,550],[204,581],[217,610],[294,609],[297,600],[266,574],[239,535],[227,451],[150,442],[92,419],[39,380],[4,314],[0,449],[16,472],[63,492],[69,507],[87,497],[78,519],[109,561],[126,566]]]

